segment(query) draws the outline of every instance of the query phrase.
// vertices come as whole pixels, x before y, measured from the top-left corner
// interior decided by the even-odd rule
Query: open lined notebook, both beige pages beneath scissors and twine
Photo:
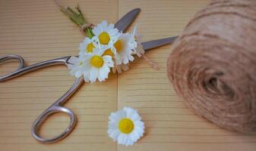
[[[87,20],[115,23],[132,8],[141,8],[144,40],[179,35],[193,14],[207,0],[100,0],[61,1],[81,5]],[[84,39],[51,0],[0,1],[0,55],[21,54],[27,64],[76,55]],[[130,28],[131,29],[131,28]],[[0,150],[254,150],[255,135],[237,134],[195,116],[175,95],[166,79],[166,57],[170,46],[147,52],[161,66],[155,71],[144,60],[135,60],[121,75],[110,75],[103,83],[84,84],[65,106],[77,114],[70,136],[54,144],[36,142],[30,127],[41,112],[74,82],[65,66],[52,66],[0,83]],[[0,65],[0,74],[11,72],[17,63]],[[119,146],[107,136],[109,112],[132,106],[141,113],[146,134],[134,146]],[[56,115],[42,133],[59,134],[68,118]]]

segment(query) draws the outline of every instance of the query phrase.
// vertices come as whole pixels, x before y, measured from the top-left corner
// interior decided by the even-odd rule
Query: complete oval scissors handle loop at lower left
[[[64,113],[68,114],[68,116],[70,117],[70,123],[68,125],[68,128],[66,128],[65,131],[63,131],[62,134],[59,134],[57,137],[53,137],[53,138],[49,138],[49,139],[41,137],[39,132],[40,132],[41,126],[43,125],[43,122],[45,122],[46,119],[49,118],[49,116],[51,116],[52,114],[54,114],[56,112],[64,112]],[[77,122],[77,117],[74,115],[74,112],[72,112],[70,109],[67,109],[63,106],[51,106],[51,107],[49,107],[49,109],[46,109],[46,111],[43,112],[36,119],[35,122],[33,122],[31,134],[36,140],[38,140],[42,143],[55,143],[58,140],[62,140],[63,138],[68,136],[68,134],[70,134],[71,131],[73,130],[76,122]]]

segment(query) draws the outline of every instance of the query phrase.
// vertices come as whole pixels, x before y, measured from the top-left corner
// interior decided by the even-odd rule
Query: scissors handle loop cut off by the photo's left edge
[[[8,79],[8,77],[11,77],[11,75],[13,75],[15,72],[17,72],[17,70],[22,69],[25,66],[25,61],[24,61],[23,57],[21,57],[20,55],[17,55],[17,54],[8,54],[8,55],[0,57],[0,64],[5,63],[8,60],[18,60],[20,65],[13,72],[10,72],[6,75],[0,75],[0,82],[5,79]]]

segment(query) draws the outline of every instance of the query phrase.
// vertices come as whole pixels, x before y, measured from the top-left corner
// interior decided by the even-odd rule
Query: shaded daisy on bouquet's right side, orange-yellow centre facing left
[[[120,65],[122,63],[127,64],[129,61],[133,61],[132,56],[133,49],[136,48],[134,45],[134,37],[131,34],[124,33],[119,39],[117,39],[112,45],[112,52],[115,54],[115,63]]]

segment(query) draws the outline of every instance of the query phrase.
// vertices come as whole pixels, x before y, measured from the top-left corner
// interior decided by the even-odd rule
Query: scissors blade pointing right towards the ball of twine
[[[150,50],[153,48],[157,48],[163,45],[167,45],[167,44],[172,44],[172,42],[175,41],[175,39],[177,39],[178,36],[173,36],[173,37],[169,37],[169,38],[165,38],[165,39],[156,39],[156,40],[152,40],[152,41],[148,41],[148,42],[141,42],[141,45],[143,46],[144,50]]]

